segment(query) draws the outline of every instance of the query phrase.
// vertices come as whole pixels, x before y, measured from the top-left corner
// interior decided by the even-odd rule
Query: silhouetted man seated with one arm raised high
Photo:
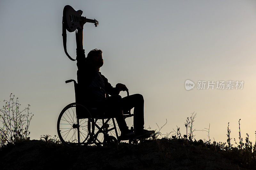
[[[144,99],[141,94],[133,94],[122,98],[120,91],[128,91],[121,83],[112,87],[101,72],[103,65],[102,51],[91,50],[85,58],[83,49],[83,26],[76,33],[76,60],[77,60],[77,82],[85,90],[86,107],[101,109],[106,115],[115,114],[116,122],[121,131],[119,140],[128,140],[130,137],[149,137],[154,131],[144,129]],[[111,95],[111,96],[108,96]],[[122,114],[122,110],[130,110],[134,107],[134,132],[128,128]]]

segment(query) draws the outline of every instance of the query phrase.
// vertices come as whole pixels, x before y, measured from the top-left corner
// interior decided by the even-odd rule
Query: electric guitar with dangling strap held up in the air
[[[80,22],[86,21],[89,23],[94,23],[95,27],[99,25],[99,22],[96,19],[88,19],[86,17],[81,16],[83,11],[74,10],[70,5],[66,5],[63,9],[63,17],[62,17],[62,37],[63,37],[63,46],[64,51],[68,58],[72,61],[76,61],[67,52],[67,32],[74,32],[76,29],[81,29]]]

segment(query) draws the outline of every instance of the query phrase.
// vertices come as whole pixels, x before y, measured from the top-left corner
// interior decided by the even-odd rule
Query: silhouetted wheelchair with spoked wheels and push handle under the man
[[[68,104],[60,112],[57,132],[62,144],[66,146],[103,146],[120,142],[118,137],[121,131],[115,121],[115,114],[105,115],[97,107],[84,104],[82,88],[73,79],[66,81],[66,83],[70,82],[74,82],[75,85],[76,102]],[[129,96],[128,91],[127,96]],[[124,119],[133,116],[131,110],[122,110],[122,113]]]

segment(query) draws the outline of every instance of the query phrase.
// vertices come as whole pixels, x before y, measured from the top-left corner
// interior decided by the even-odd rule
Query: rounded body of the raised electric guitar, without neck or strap
[[[80,28],[79,20],[81,18],[83,11],[81,10],[74,10],[70,5],[66,5],[63,9],[63,20],[62,22],[65,23],[66,29],[68,32],[74,32],[76,28]]]

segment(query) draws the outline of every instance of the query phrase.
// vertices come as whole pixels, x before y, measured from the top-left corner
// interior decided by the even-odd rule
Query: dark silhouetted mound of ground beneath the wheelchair
[[[140,144],[81,146],[30,140],[4,147],[0,169],[244,169],[221,152],[182,140],[157,139]]]

